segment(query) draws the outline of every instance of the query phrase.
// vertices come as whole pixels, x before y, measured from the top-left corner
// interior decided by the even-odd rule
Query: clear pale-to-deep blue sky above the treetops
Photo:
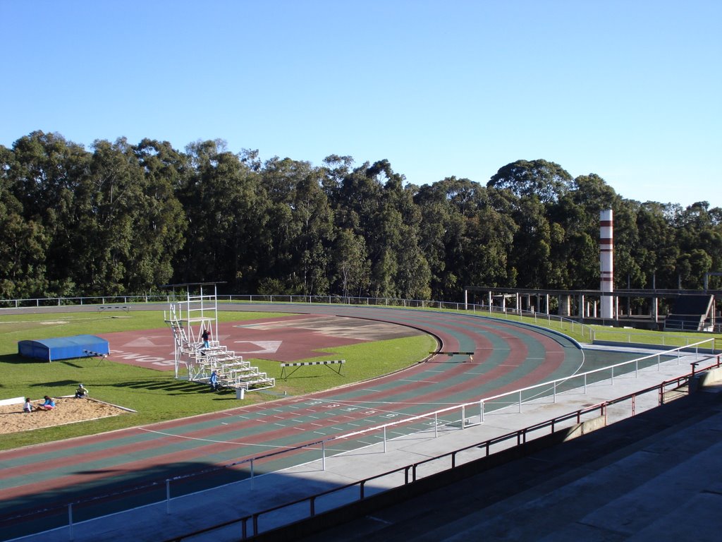
[[[722,0],[0,0],[0,145],[386,159],[414,184],[515,160],[722,207]]]

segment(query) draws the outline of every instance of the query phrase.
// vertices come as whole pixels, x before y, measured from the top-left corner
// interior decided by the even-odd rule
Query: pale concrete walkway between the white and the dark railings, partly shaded
[[[607,400],[652,387],[663,381],[688,374],[691,370],[690,363],[692,361],[697,360],[688,356],[679,360],[667,361],[658,367],[639,371],[636,377],[632,373],[615,377],[613,383],[607,380],[591,384],[587,387],[586,393],[584,390],[577,389],[557,394],[555,402],[551,397],[541,398],[532,404],[525,403],[521,408],[521,412],[518,412],[518,406],[514,406],[494,413],[485,413],[484,422],[480,424],[478,423],[479,412],[467,413],[467,423],[475,423],[474,425],[467,426],[465,429],[458,426],[456,428],[445,428],[438,431],[438,436],[435,436],[435,431],[430,429],[422,434],[388,440],[385,444],[386,452],[383,450],[384,444],[375,444],[365,449],[357,449],[335,457],[329,457],[333,450],[327,449],[325,461],[318,460],[278,473],[257,476],[253,480],[233,483],[191,496],[172,499],[170,502],[141,507],[129,512],[77,523],[72,525],[71,528],[66,526],[38,535],[17,538],[16,540],[38,542],[45,542],[48,539],[53,541],[93,542],[119,540],[158,542],[168,540],[222,522],[235,520],[238,517],[251,515],[253,512],[292,502],[295,499],[318,494],[334,487],[370,478],[395,468],[402,468],[405,465],[443,455],[467,445],[484,442],[487,439],[533,426],[555,416],[562,416],[590,405],[603,403]],[[630,400],[610,408],[607,416],[610,422],[617,421],[630,416],[632,408],[635,413],[639,414],[656,407],[656,405],[658,405],[658,395],[650,393],[638,398],[633,404]],[[569,425],[573,423],[575,421],[568,422]],[[539,435],[531,434],[529,438],[543,436],[544,434],[549,434],[549,431],[540,432]],[[492,452],[514,444],[516,444],[516,440],[505,442],[492,449]],[[460,455],[458,461],[466,462],[483,455],[484,449],[474,448],[470,452]],[[418,476],[428,476],[440,470],[445,470],[448,466],[449,460],[439,460],[419,469]],[[722,466],[722,461],[716,465],[717,468],[720,466]],[[718,468],[717,470],[721,469]],[[373,494],[402,483],[402,474],[380,478],[367,486],[366,494]],[[316,503],[316,512],[347,504],[347,502],[356,498],[357,492],[358,489],[356,488],[353,491],[342,491],[332,494],[326,499],[320,499]],[[622,506],[622,504],[620,503],[619,506]],[[262,533],[305,517],[308,517],[308,503],[297,505],[291,509],[282,509],[271,515],[264,515],[261,522],[259,522],[259,529]],[[249,530],[249,534],[250,532]],[[232,541],[240,539],[241,533],[240,525],[234,525],[231,528],[214,530],[212,533],[193,538],[193,540]],[[346,538],[351,538],[348,532]],[[479,533],[472,538],[480,539]],[[462,536],[459,540],[472,538]],[[323,540],[323,537],[315,537],[314,539]],[[378,539],[383,540],[384,538]],[[572,533],[567,539],[580,538],[574,538]],[[592,538],[587,539],[591,540]],[[643,539],[645,538],[640,538],[640,540]],[[658,540],[661,539],[664,539],[664,537],[658,538]]]

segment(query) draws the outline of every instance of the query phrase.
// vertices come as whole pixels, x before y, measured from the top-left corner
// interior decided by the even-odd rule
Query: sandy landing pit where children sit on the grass
[[[42,400],[33,401],[32,405],[35,407],[42,403]],[[22,411],[22,403],[0,405],[0,434],[59,426],[95,418],[107,418],[128,412],[123,408],[108,405],[108,403],[100,403],[92,399],[75,399],[74,397],[56,399],[55,404],[56,407],[53,410],[33,410],[31,413]]]

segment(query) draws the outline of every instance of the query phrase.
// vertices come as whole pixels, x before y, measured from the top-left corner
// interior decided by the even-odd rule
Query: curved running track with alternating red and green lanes
[[[65,513],[69,502],[123,494],[126,499],[98,499],[85,513],[101,515],[165,498],[163,481],[189,473],[175,491],[190,493],[250,476],[248,465],[217,470],[219,465],[269,455],[333,436],[380,426],[448,405],[518,390],[567,377],[580,369],[583,353],[573,340],[498,319],[466,313],[356,306],[238,304],[223,310],[279,311],[378,320],[422,330],[437,337],[440,351],[421,364],[386,377],[336,390],[287,397],[223,412],[141,426],[95,436],[0,452],[0,525],[22,522],[38,509]],[[458,418],[458,414],[456,415]],[[387,438],[429,429],[449,420],[426,420],[399,426]],[[334,440],[333,455],[379,442],[379,434]],[[318,460],[318,446],[257,460],[255,475]],[[136,491],[139,486],[143,491]],[[60,524],[66,520],[57,518]],[[3,537],[5,538],[5,537]]]

